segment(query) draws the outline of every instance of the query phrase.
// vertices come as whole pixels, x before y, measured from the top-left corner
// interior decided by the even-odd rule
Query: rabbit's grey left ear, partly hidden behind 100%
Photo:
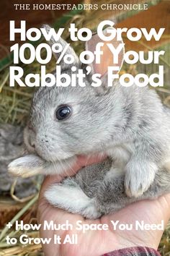
[[[42,28],[44,28],[47,33],[50,33],[50,29],[54,30],[54,28],[50,27],[49,25],[42,25]],[[55,43],[56,43],[56,45],[54,45]],[[64,69],[68,65],[70,67],[70,64],[66,64],[66,61],[64,61],[64,57],[66,55],[67,56],[69,55],[68,59],[73,58],[73,62],[71,63],[71,65],[76,65],[79,63],[79,58],[76,55],[75,51],[73,51],[73,48],[71,46],[69,46],[68,43],[65,40],[63,40],[62,38],[59,38],[59,40],[56,41],[55,38],[53,38],[53,36],[51,36],[50,40],[48,41],[48,44],[54,48],[53,54],[55,56],[55,59],[58,60],[61,57],[61,54],[64,52],[60,62],[58,63],[59,65],[61,65],[61,69]],[[61,51],[60,51],[60,48],[61,48]]]

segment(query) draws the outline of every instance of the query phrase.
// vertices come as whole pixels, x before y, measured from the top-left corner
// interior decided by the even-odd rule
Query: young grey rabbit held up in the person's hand
[[[50,27],[45,29],[49,32]],[[93,35],[86,49],[94,52],[101,41]],[[62,38],[49,43],[66,46]],[[9,172],[16,176],[60,175],[73,166],[76,155],[107,155],[102,163],[82,168],[45,192],[55,207],[92,219],[170,192],[170,110],[148,87],[126,88],[117,80],[107,86],[107,67],[121,68],[124,49],[118,64],[113,64],[106,43],[101,63],[90,64],[85,87],[54,85],[37,90],[24,129],[30,154],[9,164]],[[115,38],[109,43],[116,48],[122,41]],[[55,54],[56,59],[60,54]],[[71,46],[65,54],[73,55],[77,69],[86,69]],[[63,59],[61,71],[71,76],[71,66]],[[101,74],[100,87],[91,86],[94,73]]]

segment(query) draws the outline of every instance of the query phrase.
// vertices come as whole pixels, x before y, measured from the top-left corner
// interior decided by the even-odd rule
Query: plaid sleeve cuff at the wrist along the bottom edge
[[[105,253],[102,256],[161,256],[155,249],[148,247],[130,247],[118,249],[113,252]]]

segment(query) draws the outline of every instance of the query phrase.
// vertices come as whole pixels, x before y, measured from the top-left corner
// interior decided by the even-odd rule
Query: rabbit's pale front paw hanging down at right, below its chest
[[[153,183],[157,166],[154,163],[128,166],[125,174],[125,192],[129,197],[140,197]]]

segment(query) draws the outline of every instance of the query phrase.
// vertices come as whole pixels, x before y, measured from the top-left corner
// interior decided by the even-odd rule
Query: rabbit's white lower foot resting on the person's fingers
[[[94,198],[87,197],[83,190],[75,182],[71,186],[67,184],[53,184],[46,192],[45,197],[51,205],[68,210],[70,213],[79,213],[85,218],[99,218],[101,213],[97,211]]]

